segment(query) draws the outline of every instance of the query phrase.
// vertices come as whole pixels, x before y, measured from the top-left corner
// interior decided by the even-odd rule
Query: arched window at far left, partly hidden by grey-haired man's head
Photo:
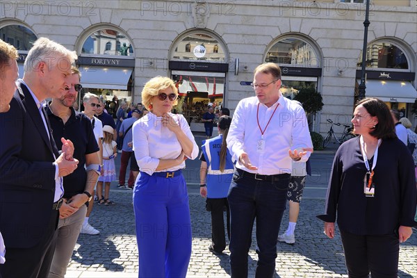
[[[0,29],[0,38],[16,47],[17,50],[28,51],[33,42],[38,40],[31,29],[22,25],[8,25]]]

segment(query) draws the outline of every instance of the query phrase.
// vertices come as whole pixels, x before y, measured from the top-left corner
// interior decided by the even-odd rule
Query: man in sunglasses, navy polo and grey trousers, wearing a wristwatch
[[[67,265],[79,237],[87,206],[99,177],[99,146],[92,130],[90,119],[83,113],[74,111],[72,105],[81,90],[80,73],[72,69],[70,90],[60,98],[54,98],[47,105],[47,115],[58,145],[61,137],[70,138],[74,143],[74,158],[79,167],[64,177],[64,203],[59,210],[58,240],[54,259],[48,277],[64,277]],[[84,165],[86,165],[87,170]],[[97,165],[97,168],[95,168]]]

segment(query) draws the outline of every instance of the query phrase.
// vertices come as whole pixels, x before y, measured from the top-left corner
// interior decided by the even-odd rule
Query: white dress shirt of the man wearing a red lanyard
[[[256,120],[258,104],[259,125],[262,130],[271,119],[263,133],[265,147],[261,152],[257,149],[262,137]],[[275,114],[272,116],[274,111]],[[288,150],[300,151],[305,147],[312,148],[313,143],[304,109],[299,104],[282,95],[269,108],[265,104],[260,104],[257,97],[248,97],[239,101],[227,135],[227,148],[237,161],[236,167],[258,174],[291,174],[292,159]],[[258,170],[248,170],[240,163],[239,156],[243,152],[248,154],[250,162],[258,167]],[[310,154],[307,152],[300,162],[307,161]]]

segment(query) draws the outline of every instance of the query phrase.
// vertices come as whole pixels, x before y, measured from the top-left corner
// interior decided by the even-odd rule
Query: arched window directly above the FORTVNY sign
[[[103,28],[92,32],[85,39],[81,54],[133,56],[133,47],[124,33]]]

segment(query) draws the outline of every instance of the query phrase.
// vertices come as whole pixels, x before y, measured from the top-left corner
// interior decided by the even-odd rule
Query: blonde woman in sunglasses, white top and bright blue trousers
[[[177,104],[174,82],[156,76],[145,84],[142,103],[150,112],[133,124],[133,151],[140,174],[133,188],[139,277],[186,277],[191,222],[181,169],[199,149]]]

